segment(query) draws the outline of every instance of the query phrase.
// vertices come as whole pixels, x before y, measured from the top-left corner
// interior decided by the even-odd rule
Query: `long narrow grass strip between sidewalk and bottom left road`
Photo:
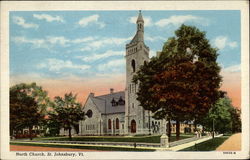
[[[77,145],[58,145],[58,144],[37,144],[37,143],[16,143],[11,142],[11,145],[21,146],[39,146],[39,147],[56,147],[56,148],[74,148],[74,149],[92,149],[101,151],[155,151],[155,149],[141,149],[141,148],[122,148],[122,147],[105,147],[105,146],[77,146]]]

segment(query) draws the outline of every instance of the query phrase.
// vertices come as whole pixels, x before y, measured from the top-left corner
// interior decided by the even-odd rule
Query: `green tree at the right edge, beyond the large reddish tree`
[[[213,125],[214,123],[214,125]],[[228,97],[220,98],[201,120],[205,130],[220,133],[235,133],[241,129],[240,115]]]

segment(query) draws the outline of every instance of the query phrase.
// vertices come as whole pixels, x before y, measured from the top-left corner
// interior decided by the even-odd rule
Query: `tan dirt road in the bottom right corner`
[[[230,136],[216,151],[239,151],[241,150],[241,133]]]

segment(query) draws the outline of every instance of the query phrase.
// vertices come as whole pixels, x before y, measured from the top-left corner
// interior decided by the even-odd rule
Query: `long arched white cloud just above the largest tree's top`
[[[185,22],[196,22],[202,25],[207,25],[208,21],[202,17],[193,15],[174,15],[166,19],[161,19],[155,23],[158,27],[165,27],[167,25],[178,26]]]

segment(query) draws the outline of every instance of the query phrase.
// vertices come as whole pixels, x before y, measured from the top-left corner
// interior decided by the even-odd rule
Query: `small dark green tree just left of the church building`
[[[49,114],[49,120],[60,124],[60,127],[69,131],[69,138],[72,139],[71,129],[78,126],[80,120],[84,119],[84,112],[81,104],[76,102],[76,95],[65,94],[64,98],[55,97],[53,111]]]

